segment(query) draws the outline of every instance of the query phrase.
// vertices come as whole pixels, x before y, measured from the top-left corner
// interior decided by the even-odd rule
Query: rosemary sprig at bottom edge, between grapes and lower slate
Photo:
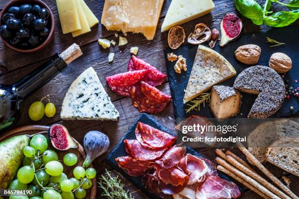
[[[106,196],[108,199],[134,199],[128,191],[123,189],[124,184],[121,183],[118,176],[113,178],[107,169],[105,175],[101,176],[98,184],[103,189],[102,196]]]

